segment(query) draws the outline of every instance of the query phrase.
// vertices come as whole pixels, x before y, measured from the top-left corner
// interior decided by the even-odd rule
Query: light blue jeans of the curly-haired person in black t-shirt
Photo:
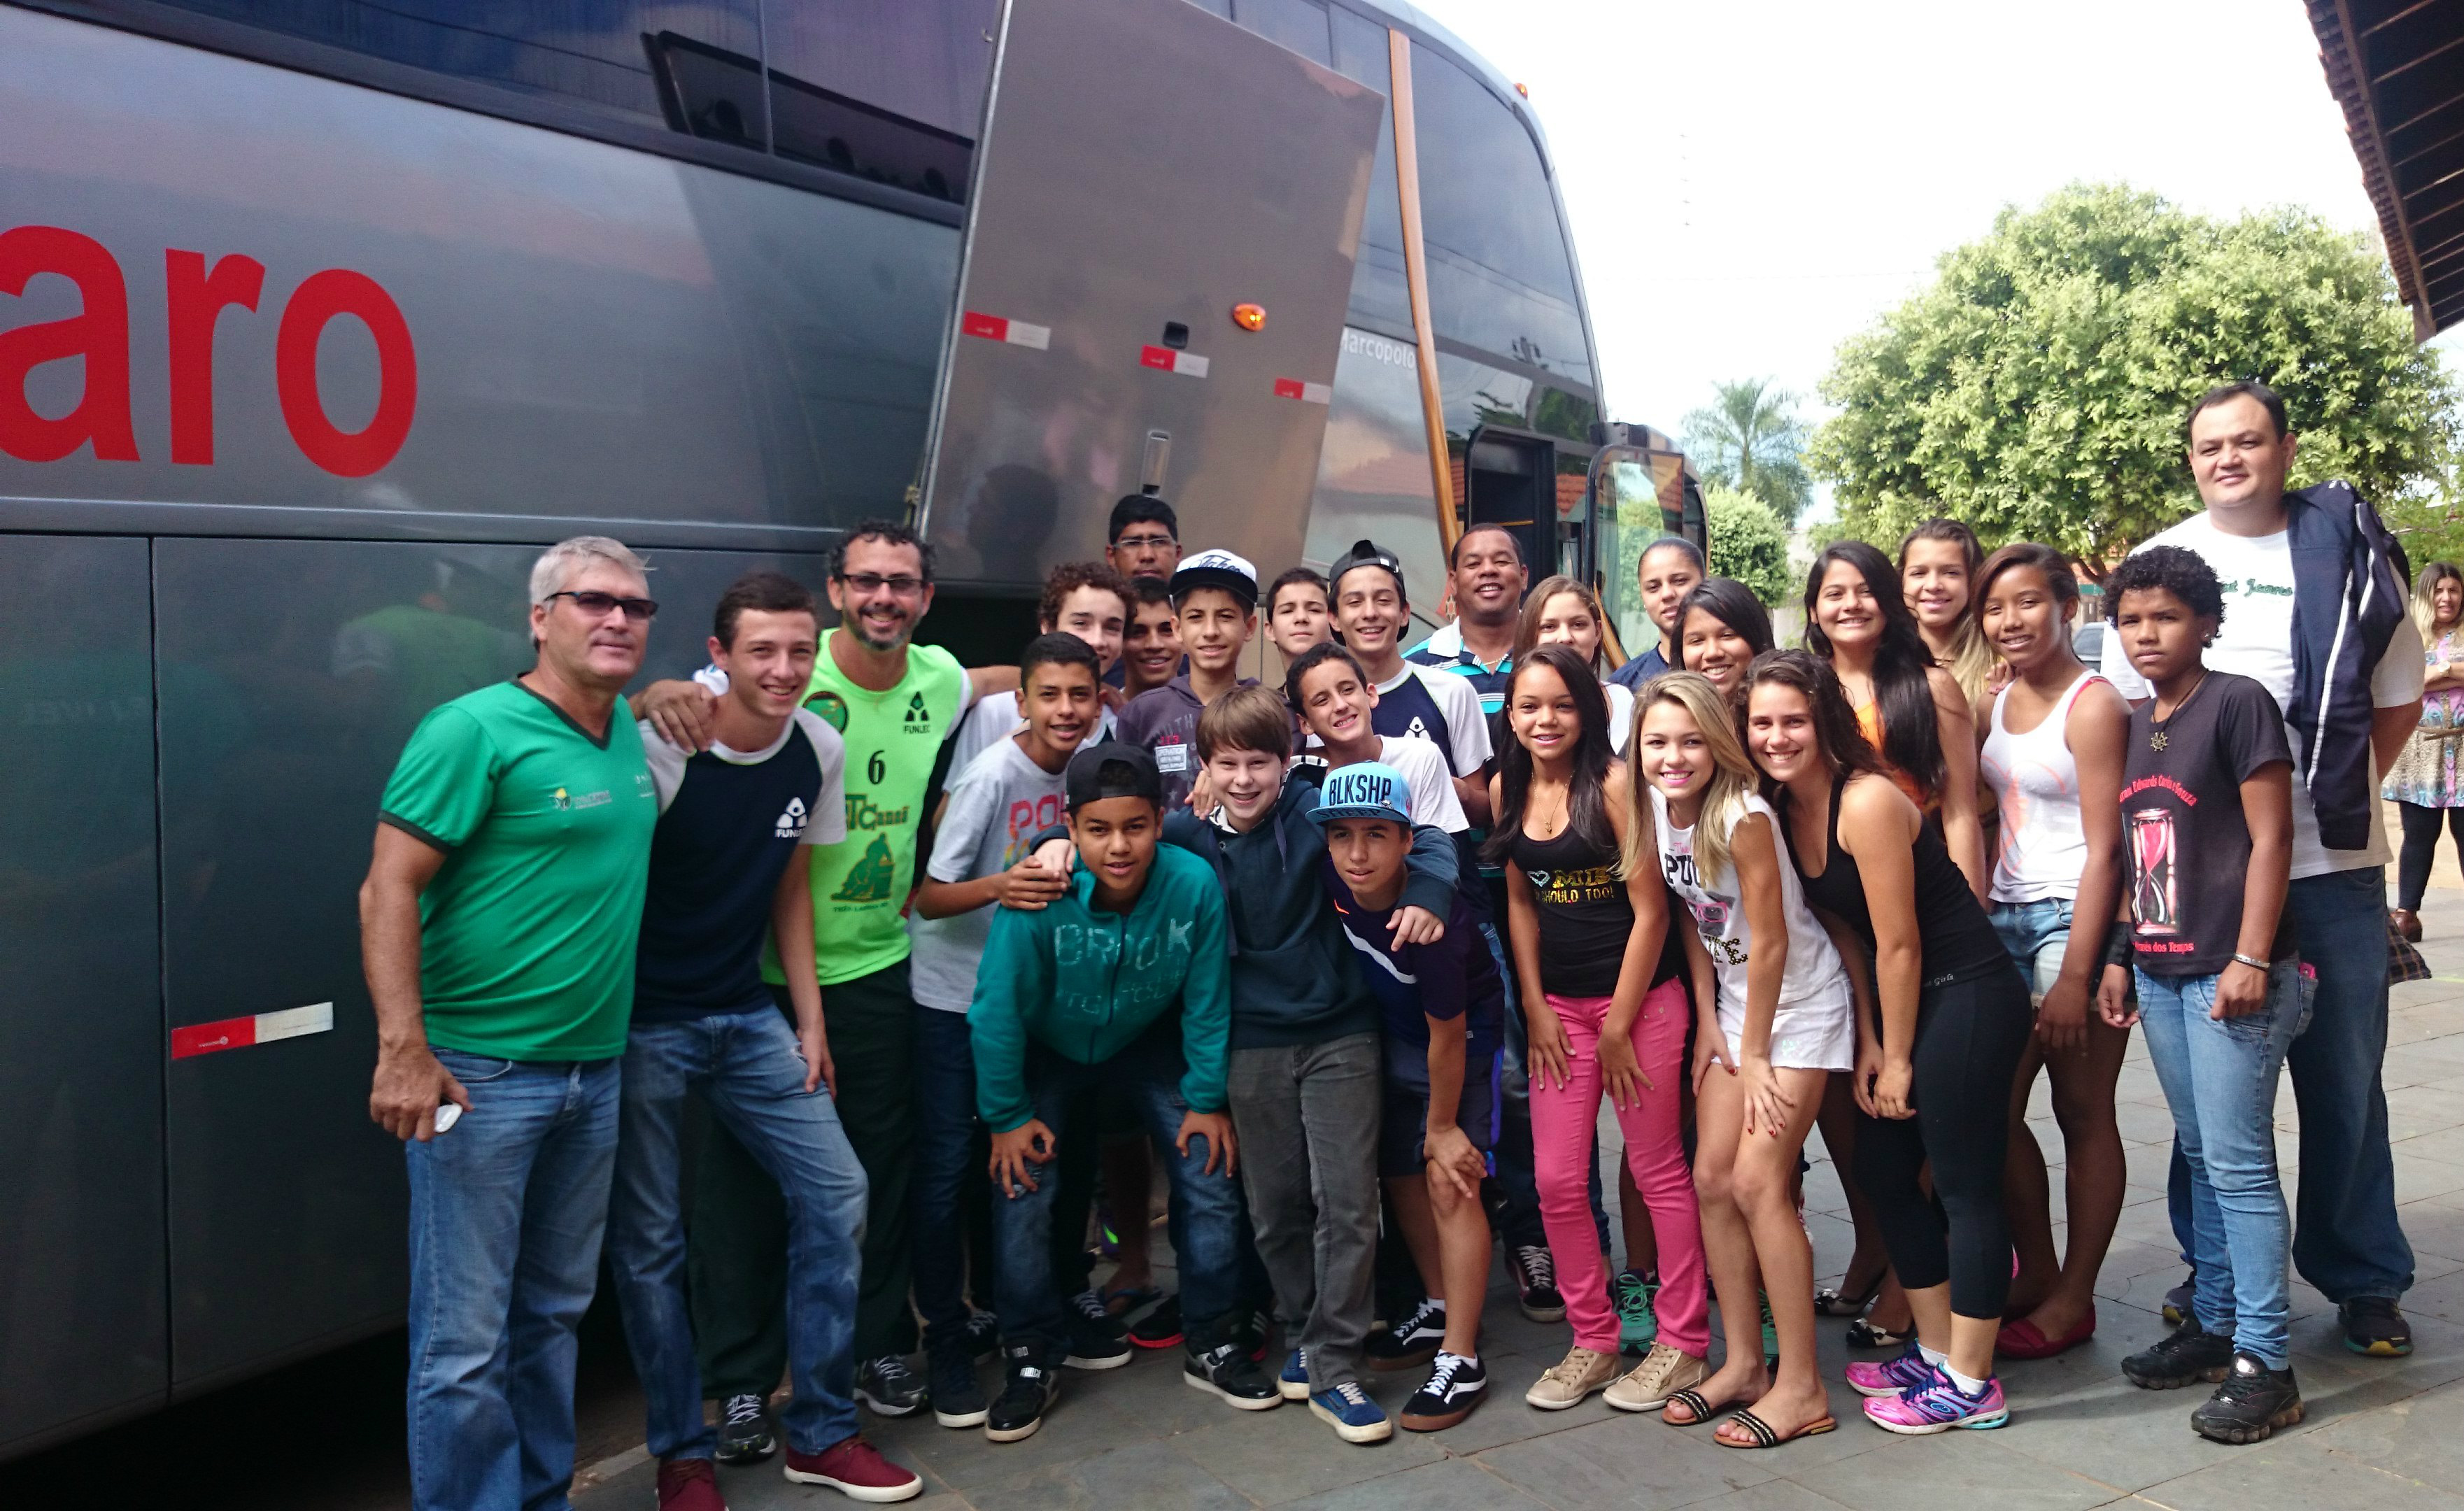
[[[2218,976],[2139,976],[2139,1023],[2190,1171],[2198,1326],[2287,1368],[2292,1215],[2277,1178],[2277,1075],[2309,1020],[2301,966],[2279,961],[2267,1006],[2210,1018]]]

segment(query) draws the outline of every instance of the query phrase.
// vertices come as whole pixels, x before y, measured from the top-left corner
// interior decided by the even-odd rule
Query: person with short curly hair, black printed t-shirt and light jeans
[[[2208,562],[2149,547],[2104,592],[2124,653],[2156,695],[2131,712],[2122,769],[2131,873],[2097,1006],[2117,1028],[2146,1023],[2190,1166],[2198,1260],[2193,1314],[2124,1358],[2122,1373],[2158,1390],[2223,1380],[2190,1427],[2259,1442],[2304,1412],[2284,1336],[2292,1218],[2274,1136],[2277,1072],[2309,1003],[2284,919],[2292,747],[2267,688],[2200,663],[2225,616]],[[2136,1013],[2124,966],[2136,974]]]

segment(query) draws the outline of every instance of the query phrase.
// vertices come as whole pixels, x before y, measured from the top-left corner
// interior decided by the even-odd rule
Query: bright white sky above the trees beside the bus
[[[1671,434],[1725,377],[1818,414],[1841,338],[2072,180],[2375,227],[2299,0],[1419,5],[1530,89],[1609,414]]]

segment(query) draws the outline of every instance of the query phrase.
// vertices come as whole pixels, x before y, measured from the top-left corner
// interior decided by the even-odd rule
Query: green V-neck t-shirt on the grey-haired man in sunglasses
[[[621,705],[591,739],[520,683],[466,693],[419,720],[379,818],[446,853],[419,897],[429,1043],[623,1053],[658,794]]]

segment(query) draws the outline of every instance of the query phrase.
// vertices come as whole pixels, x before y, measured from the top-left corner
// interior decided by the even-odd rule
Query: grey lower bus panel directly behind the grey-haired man
[[[377,1057],[357,887],[377,796],[429,707],[530,666],[535,550],[163,540],[170,1025],[333,1003],[333,1028],[170,1062],[182,1383],[382,1324],[404,1297],[404,1181],[367,1122]],[[643,678],[702,666],[719,589],[816,557],[650,552]]]

